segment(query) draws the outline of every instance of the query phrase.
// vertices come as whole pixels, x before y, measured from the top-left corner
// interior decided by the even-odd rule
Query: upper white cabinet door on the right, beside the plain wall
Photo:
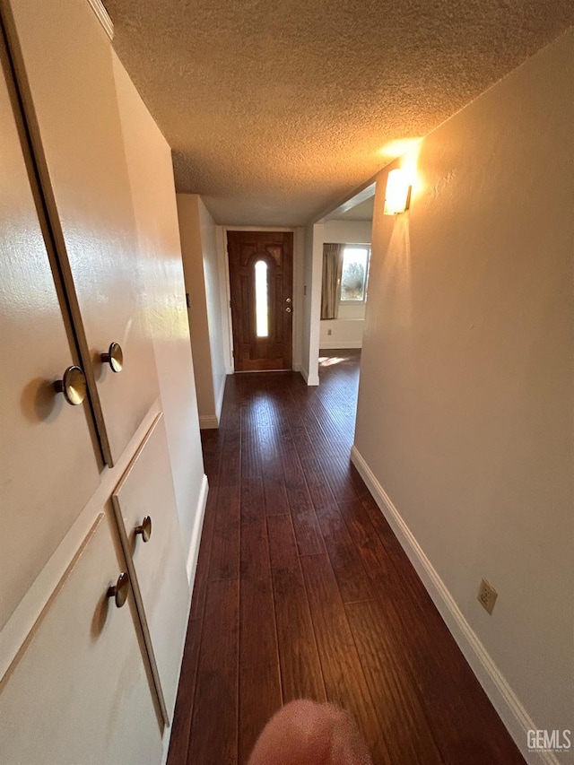
[[[112,51],[86,0],[7,0],[7,27],[109,464],[158,397]],[[101,361],[119,343],[124,367]]]

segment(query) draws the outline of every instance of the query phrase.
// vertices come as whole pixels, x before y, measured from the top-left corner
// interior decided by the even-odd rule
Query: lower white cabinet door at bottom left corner
[[[0,762],[158,765],[161,726],[132,595],[101,515],[0,683]]]

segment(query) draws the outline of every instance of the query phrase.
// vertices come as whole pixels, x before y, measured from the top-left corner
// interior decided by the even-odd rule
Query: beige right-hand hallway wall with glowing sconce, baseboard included
[[[410,212],[379,176],[353,456],[523,752],[572,728],[573,82],[570,30],[422,142]]]

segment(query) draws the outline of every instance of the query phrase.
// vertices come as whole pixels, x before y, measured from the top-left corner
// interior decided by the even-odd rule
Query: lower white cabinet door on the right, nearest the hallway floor
[[[168,720],[173,716],[191,595],[179,531],[170,456],[162,415],[153,423],[112,497],[128,567],[135,574],[143,622],[161,684]],[[145,517],[152,533],[144,542]],[[139,591],[137,589],[139,587]]]

